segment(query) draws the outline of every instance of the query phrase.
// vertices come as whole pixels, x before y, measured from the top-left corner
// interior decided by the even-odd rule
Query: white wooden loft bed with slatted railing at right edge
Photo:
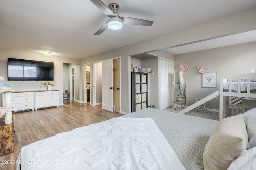
[[[256,73],[220,76],[220,120],[256,107],[243,99],[256,98]]]

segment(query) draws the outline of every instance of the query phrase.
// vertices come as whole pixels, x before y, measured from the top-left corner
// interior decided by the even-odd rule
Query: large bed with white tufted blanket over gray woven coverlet
[[[219,124],[216,120],[146,108],[27,145],[20,152],[17,169],[202,170],[207,153],[212,155],[206,146],[210,146],[209,139]],[[106,129],[110,135],[104,133]],[[89,133],[94,135],[90,140]],[[98,149],[103,143],[106,145]],[[228,146],[227,141],[225,144]],[[28,160],[34,162],[22,164]]]

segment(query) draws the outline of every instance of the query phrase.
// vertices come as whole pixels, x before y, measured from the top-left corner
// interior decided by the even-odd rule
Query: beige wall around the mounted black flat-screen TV
[[[0,49],[0,76],[4,77],[4,82],[9,82],[13,84],[13,88],[16,91],[29,91],[29,90],[46,90],[44,85],[44,81],[8,81],[7,77],[7,58],[16,58],[16,59],[28,59],[28,60],[36,60],[36,61],[47,61],[54,63],[54,83],[55,86],[52,86],[52,90],[59,90],[59,105],[63,105],[63,63],[72,63],[72,64],[80,64],[81,60],[78,59],[70,59],[66,57],[58,57],[58,56],[46,56],[43,54],[37,53],[27,53],[23,51],[14,51],[14,50],[6,50]],[[78,73],[79,73],[78,69]],[[80,82],[78,82],[78,85]],[[78,90],[81,91],[80,84]],[[82,96],[78,94],[78,99],[82,100]],[[0,98],[0,102],[2,102],[2,98]]]

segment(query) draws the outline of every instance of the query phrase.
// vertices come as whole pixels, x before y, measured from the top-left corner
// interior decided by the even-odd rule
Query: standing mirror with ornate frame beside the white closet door
[[[184,72],[174,71],[174,80],[172,82],[172,104],[170,108],[173,107],[176,110],[174,104],[181,104],[181,107],[186,106],[186,83]]]

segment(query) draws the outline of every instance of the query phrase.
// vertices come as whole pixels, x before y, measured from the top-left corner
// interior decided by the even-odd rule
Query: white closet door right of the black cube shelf
[[[174,63],[161,59],[161,98],[160,109],[166,109],[172,102],[172,78],[174,72]]]

